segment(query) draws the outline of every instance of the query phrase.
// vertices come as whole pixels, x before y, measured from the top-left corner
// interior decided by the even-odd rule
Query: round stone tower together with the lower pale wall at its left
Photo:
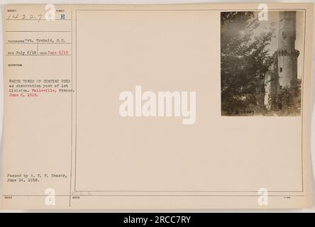
[[[278,109],[277,95],[280,90],[290,87],[297,79],[297,57],[295,50],[296,11],[280,11],[278,49],[273,55],[274,62],[265,74],[265,106],[267,110]]]

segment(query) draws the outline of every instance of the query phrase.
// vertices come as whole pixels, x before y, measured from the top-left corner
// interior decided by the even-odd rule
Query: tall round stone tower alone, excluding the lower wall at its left
[[[279,40],[277,50],[277,71],[280,89],[289,87],[292,79],[297,79],[297,57],[295,50],[296,12],[280,11]]]

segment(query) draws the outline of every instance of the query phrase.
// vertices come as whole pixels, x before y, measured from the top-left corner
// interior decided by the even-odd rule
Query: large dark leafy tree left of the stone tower
[[[275,29],[254,35],[259,22],[254,12],[221,13],[221,110],[258,109],[265,73],[272,65],[267,50]],[[258,29],[256,29],[256,32]],[[261,110],[260,110],[261,111]]]

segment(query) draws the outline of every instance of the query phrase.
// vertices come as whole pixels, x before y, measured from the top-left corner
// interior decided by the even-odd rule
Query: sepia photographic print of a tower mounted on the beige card
[[[304,11],[221,12],[221,115],[299,116]]]

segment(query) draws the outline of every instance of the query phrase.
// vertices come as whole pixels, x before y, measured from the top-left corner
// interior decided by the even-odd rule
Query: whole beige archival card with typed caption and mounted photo
[[[312,4],[3,15],[2,209],[311,206]]]

